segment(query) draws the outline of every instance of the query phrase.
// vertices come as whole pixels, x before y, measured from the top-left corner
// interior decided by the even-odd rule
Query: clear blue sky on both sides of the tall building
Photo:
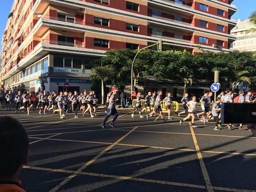
[[[8,15],[11,12],[13,0],[1,0],[0,6],[0,41],[2,40]],[[231,17],[240,18],[241,21],[247,19],[249,15],[256,10],[256,0],[234,0],[232,4],[237,6],[237,12]],[[0,44],[0,50],[2,45]]]

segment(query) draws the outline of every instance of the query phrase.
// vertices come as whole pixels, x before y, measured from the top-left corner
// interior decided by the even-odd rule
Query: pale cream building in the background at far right
[[[249,19],[241,21],[238,19],[236,27],[231,30],[231,34],[237,37],[233,42],[233,49],[240,51],[256,51],[256,33],[246,34],[249,29],[255,28]]]

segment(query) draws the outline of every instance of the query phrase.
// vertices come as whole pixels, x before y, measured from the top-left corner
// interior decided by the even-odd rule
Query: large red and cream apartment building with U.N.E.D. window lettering
[[[5,89],[90,89],[110,49],[230,50],[233,0],[14,0],[2,39]],[[153,49],[156,49],[153,48]],[[42,87],[44,86],[44,87]],[[65,90],[65,89],[64,89]]]

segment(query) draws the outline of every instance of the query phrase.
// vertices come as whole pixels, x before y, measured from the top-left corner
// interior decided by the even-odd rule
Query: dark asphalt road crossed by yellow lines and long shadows
[[[164,123],[158,116],[131,117],[118,110],[117,128],[102,129],[105,113],[74,118],[69,113],[15,113],[30,139],[29,163],[20,173],[27,192],[142,192],[256,190],[256,138],[251,131],[214,131],[196,121]],[[146,114],[143,114],[146,117]],[[166,116],[166,114],[165,114]],[[111,119],[109,119],[111,120]],[[110,123],[110,122],[109,122]],[[11,124],[11,122],[10,122]]]

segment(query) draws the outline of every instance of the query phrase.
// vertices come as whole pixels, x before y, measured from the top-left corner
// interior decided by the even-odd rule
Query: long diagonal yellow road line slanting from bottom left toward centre
[[[118,139],[116,142],[114,142],[113,144],[111,144],[109,147],[107,147],[105,150],[101,151],[101,153],[99,153],[98,155],[96,155],[93,159],[91,159],[90,161],[88,161],[86,164],[84,164],[82,167],[80,167],[78,170],[76,170],[77,172],[81,172],[83,169],[86,169],[86,167],[90,166],[91,163],[93,163],[94,161],[96,161],[98,158],[100,158],[103,154],[105,154],[107,151],[109,151],[111,148],[113,148],[117,143],[119,143],[121,140],[123,140],[124,138],[126,138],[129,134],[131,134],[135,129],[137,129],[138,127],[134,127],[131,131],[129,131],[128,133],[126,133],[124,136],[122,136],[120,139]],[[74,178],[77,174],[72,174],[71,176],[67,177],[64,181],[62,181],[59,185],[57,185],[56,187],[54,187],[53,189],[50,190],[50,192],[55,192],[57,191],[60,187],[62,187],[63,185],[65,185],[68,181],[70,181],[72,178]]]

